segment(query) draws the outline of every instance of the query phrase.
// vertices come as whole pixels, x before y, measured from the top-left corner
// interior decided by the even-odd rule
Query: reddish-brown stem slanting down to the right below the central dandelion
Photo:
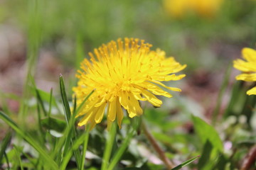
[[[144,131],[144,134],[146,135],[146,137],[149,139],[149,142],[151,142],[151,145],[154,147],[155,151],[159,154],[159,157],[162,160],[162,162],[164,162],[164,164],[168,169],[173,169],[174,164],[166,157],[164,151],[156,142],[156,139],[153,137],[153,135],[151,135],[149,130],[146,128],[146,124],[144,123],[143,120],[142,120],[142,130]]]

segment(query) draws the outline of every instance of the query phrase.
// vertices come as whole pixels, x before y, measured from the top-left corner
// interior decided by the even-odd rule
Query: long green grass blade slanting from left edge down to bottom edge
[[[0,119],[4,120],[4,122],[9,125],[13,130],[15,130],[15,132],[18,133],[18,135],[20,135],[24,140],[26,140],[26,142],[28,142],[31,147],[36,149],[38,153],[41,154],[41,157],[45,160],[46,164],[48,164],[52,169],[58,169],[58,165],[53,161],[53,159],[50,158],[50,156],[46,153],[45,149],[38,145],[38,143],[33,140],[30,135],[28,135],[26,132],[23,132],[21,128],[19,128],[18,125],[16,125],[16,123],[14,123],[11,118],[9,118],[8,115],[0,111]]]

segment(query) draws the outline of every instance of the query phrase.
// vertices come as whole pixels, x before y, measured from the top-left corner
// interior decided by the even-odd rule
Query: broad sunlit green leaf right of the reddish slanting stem
[[[222,152],[223,151],[223,142],[220,140],[218,132],[211,126],[208,125],[201,118],[198,118],[192,115],[193,125],[196,130],[198,137],[201,139],[203,144],[208,140],[215,149]]]

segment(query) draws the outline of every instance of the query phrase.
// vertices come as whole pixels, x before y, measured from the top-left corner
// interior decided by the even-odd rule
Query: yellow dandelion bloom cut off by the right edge
[[[244,73],[238,75],[235,79],[242,81],[256,81],[256,50],[245,47],[242,49],[242,57],[247,61],[240,59],[235,60],[234,67]],[[256,86],[247,91],[247,95],[252,94],[256,95]]]

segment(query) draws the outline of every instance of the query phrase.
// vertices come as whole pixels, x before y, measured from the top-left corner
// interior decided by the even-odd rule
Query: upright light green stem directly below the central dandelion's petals
[[[103,154],[101,170],[106,170],[107,166],[109,165],[110,155],[112,152],[112,147],[113,147],[116,133],[117,133],[117,125],[113,123],[111,130],[109,132],[109,135],[107,137],[107,143],[106,143],[105,151]]]

